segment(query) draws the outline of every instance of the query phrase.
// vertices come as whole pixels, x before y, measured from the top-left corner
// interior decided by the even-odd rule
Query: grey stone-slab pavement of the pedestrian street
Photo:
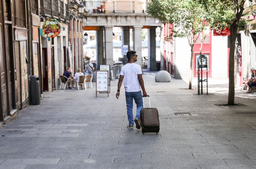
[[[117,80],[109,97],[95,97],[95,83],[87,90],[56,90],[0,128],[0,168],[256,168],[256,93],[236,89],[238,106],[223,106],[227,80],[209,79],[209,95],[197,95],[197,86],[188,90],[186,81],[173,78],[157,83],[155,74],[145,71],[143,78],[159,111],[158,134],[126,128],[125,93],[122,85],[116,99]]]

